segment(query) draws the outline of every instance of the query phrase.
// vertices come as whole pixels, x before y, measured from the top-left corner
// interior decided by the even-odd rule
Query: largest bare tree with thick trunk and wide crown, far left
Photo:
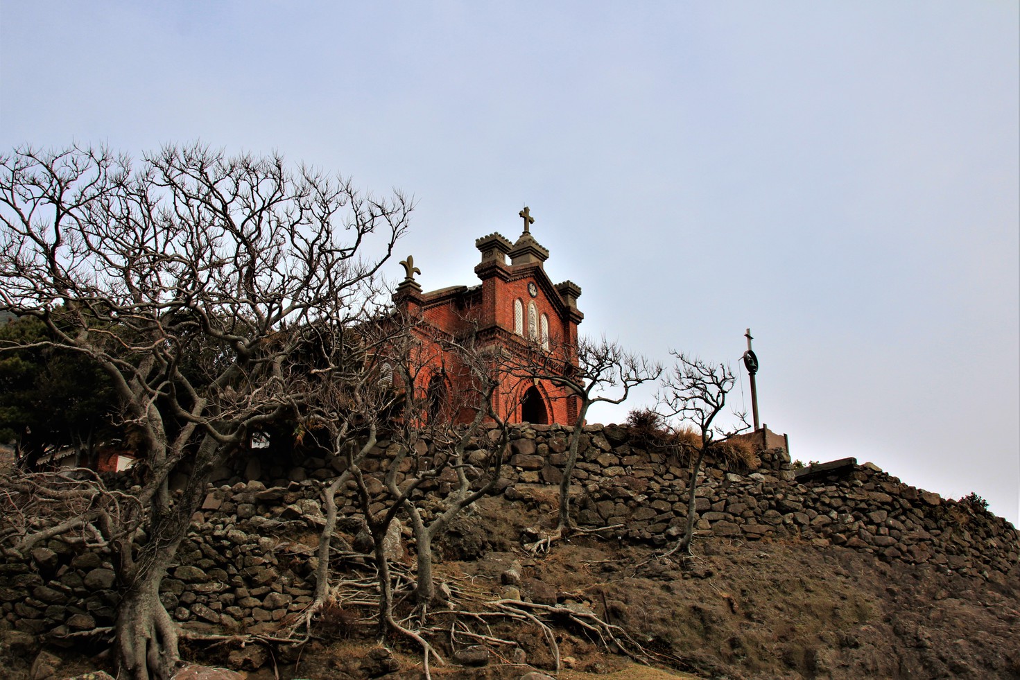
[[[137,167],[105,149],[0,156],[0,309],[43,321],[40,345],[97,362],[141,442],[139,504],[122,520],[148,540],[108,536],[124,677],[172,673],[178,633],[158,587],[210,471],[301,411],[282,371],[307,348],[295,330],[364,318],[410,210],[278,156],[202,146]],[[171,501],[175,470],[188,476]]]

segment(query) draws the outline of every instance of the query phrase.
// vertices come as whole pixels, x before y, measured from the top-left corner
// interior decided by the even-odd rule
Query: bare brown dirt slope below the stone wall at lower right
[[[487,500],[446,543],[451,558],[493,552],[446,568],[498,591],[494,572],[514,557],[504,537],[537,519]],[[693,559],[659,555],[575,538],[522,560],[522,589],[534,579],[561,603],[608,610],[648,649],[707,677],[1020,677],[1020,569],[1001,585],[835,546],[719,538]]]

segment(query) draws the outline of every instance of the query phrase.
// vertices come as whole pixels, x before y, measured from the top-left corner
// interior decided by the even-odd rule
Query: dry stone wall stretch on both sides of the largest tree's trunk
[[[161,585],[160,597],[193,627],[258,630],[311,601],[314,562],[294,538],[314,530],[313,481],[266,488],[258,480],[210,489]],[[206,519],[208,518],[208,519]],[[113,623],[121,588],[110,556],[58,539],[28,555],[4,552],[0,612],[16,630],[59,641]],[[265,626],[268,628],[268,626]]]

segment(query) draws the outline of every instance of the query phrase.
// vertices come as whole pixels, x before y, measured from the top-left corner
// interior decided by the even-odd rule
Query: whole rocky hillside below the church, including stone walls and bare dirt
[[[522,543],[555,514],[565,432],[524,427],[515,437],[501,493],[438,545],[457,614],[430,619],[451,662],[434,668],[436,677],[517,680],[552,673],[557,655],[566,678],[655,677],[634,660],[698,677],[1020,677],[1017,532],[979,506],[852,460],[798,476],[781,450],[760,452],[707,468],[695,557],[681,559],[666,554],[685,519],[684,466],[623,428],[593,426],[574,489],[581,531],[533,556]],[[380,441],[379,469],[386,448]],[[163,582],[167,611],[197,633],[273,636],[310,601],[317,496],[336,469],[330,460],[252,459],[222,471]],[[374,647],[353,501],[341,513],[335,570],[347,584],[315,639],[195,643],[191,653],[252,677],[421,677],[412,645]],[[394,555],[399,578],[412,577],[408,540],[405,531]],[[102,554],[57,539],[31,555],[5,551],[6,668],[44,680],[101,666],[94,658],[75,666],[74,655],[102,648],[117,587]],[[518,601],[529,616],[506,605]]]

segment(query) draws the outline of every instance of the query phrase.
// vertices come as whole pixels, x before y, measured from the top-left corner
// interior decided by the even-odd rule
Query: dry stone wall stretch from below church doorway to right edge
[[[565,451],[567,433],[553,425],[517,434],[512,448],[533,447],[537,455],[510,458],[518,483],[505,491],[508,498],[526,498],[522,484],[559,480],[564,456],[557,452]],[[577,523],[622,525],[621,537],[658,545],[678,536],[686,519],[687,466],[635,446],[617,425],[590,426],[585,437],[575,474],[582,489]],[[520,439],[533,443],[522,446]],[[870,463],[844,465],[802,482],[782,449],[759,452],[758,458],[753,470],[708,462],[695,493],[698,534],[804,539],[991,579],[1005,578],[1020,561],[1020,534],[1003,518],[905,484]],[[539,459],[545,461],[541,468]]]

